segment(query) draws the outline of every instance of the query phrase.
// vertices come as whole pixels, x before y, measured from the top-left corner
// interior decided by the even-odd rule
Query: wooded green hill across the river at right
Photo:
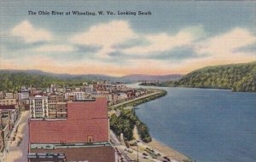
[[[256,61],[204,67],[166,85],[256,92]]]

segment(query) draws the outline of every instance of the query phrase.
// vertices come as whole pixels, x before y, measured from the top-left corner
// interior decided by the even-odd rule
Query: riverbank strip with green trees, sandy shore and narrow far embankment
[[[137,150],[136,145],[138,145],[140,148],[140,153],[148,153],[152,155],[152,157],[154,157],[155,159],[163,159],[163,157],[165,157],[163,159],[164,161],[168,161],[169,158],[181,162],[194,161],[183,153],[179,153],[175,149],[170,148],[165,144],[153,139],[149,134],[147,125],[144,124],[140,119],[138,119],[134,110],[137,105],[143,104],[148,101],[153,101],[167,94],[166,90],[148,89],[148,91],[148,95],[140,97],[137,100],[124,102],[123,104],[120,103],[115,107],[108,107],[111,130],[113,130],[114,134],[118,136],[121,141],[125,140],[125,145],[127,146],[127,148]],[[155,153],[152,154],[152,151],[155,151]],[[161,157],[160,155],[163,157]],[[147,161],[147,159],[144,159],[143,161]]]

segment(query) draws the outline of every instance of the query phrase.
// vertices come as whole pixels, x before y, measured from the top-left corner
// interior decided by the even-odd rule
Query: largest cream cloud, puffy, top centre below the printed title
[[[108,23],[101,23],[96,26],[91,26],[87,32],[82,32],[74,35],[71,43],[95,46],[102,48],[96,55],[106,56],[113,52],[116,44],[125,42],[126,40],[137,38],[125,20],[113,20]]]

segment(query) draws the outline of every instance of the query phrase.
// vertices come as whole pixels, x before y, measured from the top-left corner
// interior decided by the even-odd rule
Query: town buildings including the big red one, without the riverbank
[[[108,107],[148,95],[108,81],[76,87],[51,84],[40,89],[22,86],[0,92],[0,158],[6,159],[12,142],[27,138],[27,161],[123,161],[117,139],[110,140]],[[26,136],[17,136],[20,114],[28,113]],[[64,134],[63,134],[64,133]],[[115,138],[115,137],[113,137]],[[24,148],[23,148],[24,149]],[[24,155],[23,155],[24,156]],[[124,155],[123,155],[124,156]]]

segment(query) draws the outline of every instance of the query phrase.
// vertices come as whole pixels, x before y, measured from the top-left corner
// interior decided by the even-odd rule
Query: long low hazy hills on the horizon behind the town
[[[19,90],[22,85],[46,88],[50,84],[78,86],[83,82],[108,80],[112,82],[132,83],[141,80],[165,81],[181,78],[180,75],[128,75],[124,77],[113,77],[102,74],[72,75],[68,73],[52,73],[40,70],[0,70],[0,90]]]

